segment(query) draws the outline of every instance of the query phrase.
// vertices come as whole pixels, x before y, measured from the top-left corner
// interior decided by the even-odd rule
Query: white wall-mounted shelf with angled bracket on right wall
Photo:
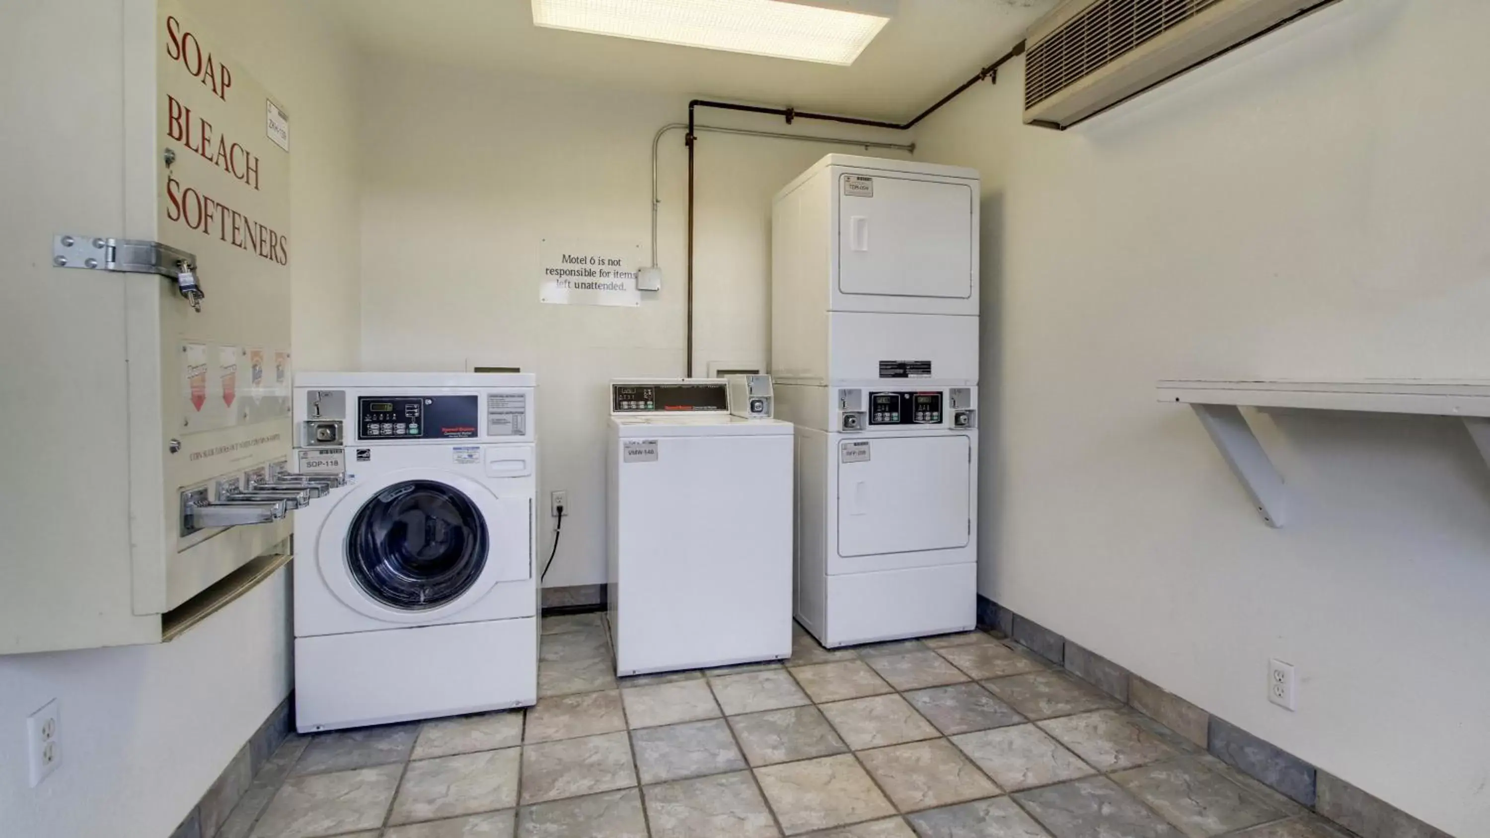
[[[1287,488],[1240,408],[1457,417],[1490,464],[1487,381],[1159,381],[1159,400],[1195,409],[1271,527],[1287,519]]]

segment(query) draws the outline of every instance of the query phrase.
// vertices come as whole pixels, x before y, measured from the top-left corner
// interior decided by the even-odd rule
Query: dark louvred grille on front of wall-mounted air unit
[[[1025,107],[1033,107],[1222,0],[1100,0],[1030,48]]]

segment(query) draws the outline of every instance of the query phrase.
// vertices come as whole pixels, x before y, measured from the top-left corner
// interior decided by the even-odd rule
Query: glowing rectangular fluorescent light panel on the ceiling
[[[533,0],[533,24],[848,65],[893,9],[893,0]]]

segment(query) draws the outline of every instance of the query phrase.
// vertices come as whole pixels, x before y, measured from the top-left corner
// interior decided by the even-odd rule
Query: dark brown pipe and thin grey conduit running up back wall
[[[791,125],[797,119],[815,119],[815,121],[821,121],[821,122],[837,122],[837,124],[842,124],[842,125],[861,125],[861,127],[866,127],[866,128],[887,128],[887,129],[891,129],[891,131],[909,131],[910,128],[915,128],[922,119],[925,119],[927,116],[931,116],[933,113],[936,113],[943,104],[952,101],[954,98],[957,98],[958,95],[961,95],[963,92],[966,92],[973,85],[976,85],[976,83],[979,83],[979,82],[982,82],[985,79],[989,80],[989,82],[998,83],[998,68],[1003,67],[1004,63],[1013,60],[1016,55],[1024,55],[1024,51],[1025,51],[1025,42],[1021,40],[1019,43],[1016,43],[1013,46],[1013,49],[1010,49],[1009,52],[1006,52],[1004,55],[1001,55],[997,61],[994,61],[988,67],[983,67],[982,70],[979,70],[971,79],[968,79],[968,80],[963,82],[961,85],[958,85],[952,92],[949,92],[945,97],[939,98],[934,104],[931,104],[931,107],[928,107],[928,109],[922,110],[921,113],[915,115],[907,122],[887,122],[887,121],[882,121],[882,119],[863,119],[863,118],[858,118],[858,116],[839,116],[839,115],[833,115],[833,113],[815,113],[815,112],[811,112],[811,110],[797,110],[794,107],[764,107],[764,106],[758,106],[758,104],[739,104],[739,103],[714,101],[714,100],[703,100],[703,98],[696,98],[696,100],[690,101],[688,103],[688,125],[687,125],[688,132],[684,134],[684,138],[682,138],[684,144],[688,146],[688,232],[687,232],[687,235],[688,235],[688,247],[687,247],[687,250],[688,250],[688,274],[687,274],[687,280],[685,280],[687,281],[687,350],[685,351],[688,353],[688,359],[687,359],[687,377],[693,378],[693,176],[694,176],[693,149],[697,144],[699,132],[700,131],[724,131],[721,128],[709,128],[709,127],[699,125],[694,121],[694,112],[697,109],[700,109],[700,107],[712,107],[712,109],[717,109],[717,110],[735,110],[735,112],[742,112],[742,113],[763,113],[763,115],[767,115],[767,116],[781,116],[782,119],[787,121],[787,125]],[[657,131],[657,135],[653,138],[653,269],[657,268],[657,141],[662,140],[663,132],[672,129],[673,127],[675,125],[665,125],[660,131]],[[745,131],[745,129],[727,129],[724,132],[732,132],[732,134],[752,134],[752,135],[775,135],[775,137],[791,138],[791,140],[808,140],[808,137],[797,137],[794,134],[766,134],[766,132],[754,132],[754,131]],[[869,149],[869,147],[881,147],[881,149],[885,149],[885,147],[891,147],[891,149],[893,147],[901,147],[901,149],[915,152],[915,144],[913,143],[909,144],[909,146],[895,146],[893,143],[870,143],[870,141],[864,141],[864,140],[833,140],[833,138],[827,138],[827,137],[820,137],[817,140],[818,141],[827,141],[827,143],[843,143],[843,144],[849,144],[849,146],[863,146],[866,149]]]

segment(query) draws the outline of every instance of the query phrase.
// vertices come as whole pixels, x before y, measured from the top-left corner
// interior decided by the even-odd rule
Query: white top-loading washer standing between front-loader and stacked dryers
[[[611,384],[618,674],[791,656],[791,424],[730,415],[724,380]]]

